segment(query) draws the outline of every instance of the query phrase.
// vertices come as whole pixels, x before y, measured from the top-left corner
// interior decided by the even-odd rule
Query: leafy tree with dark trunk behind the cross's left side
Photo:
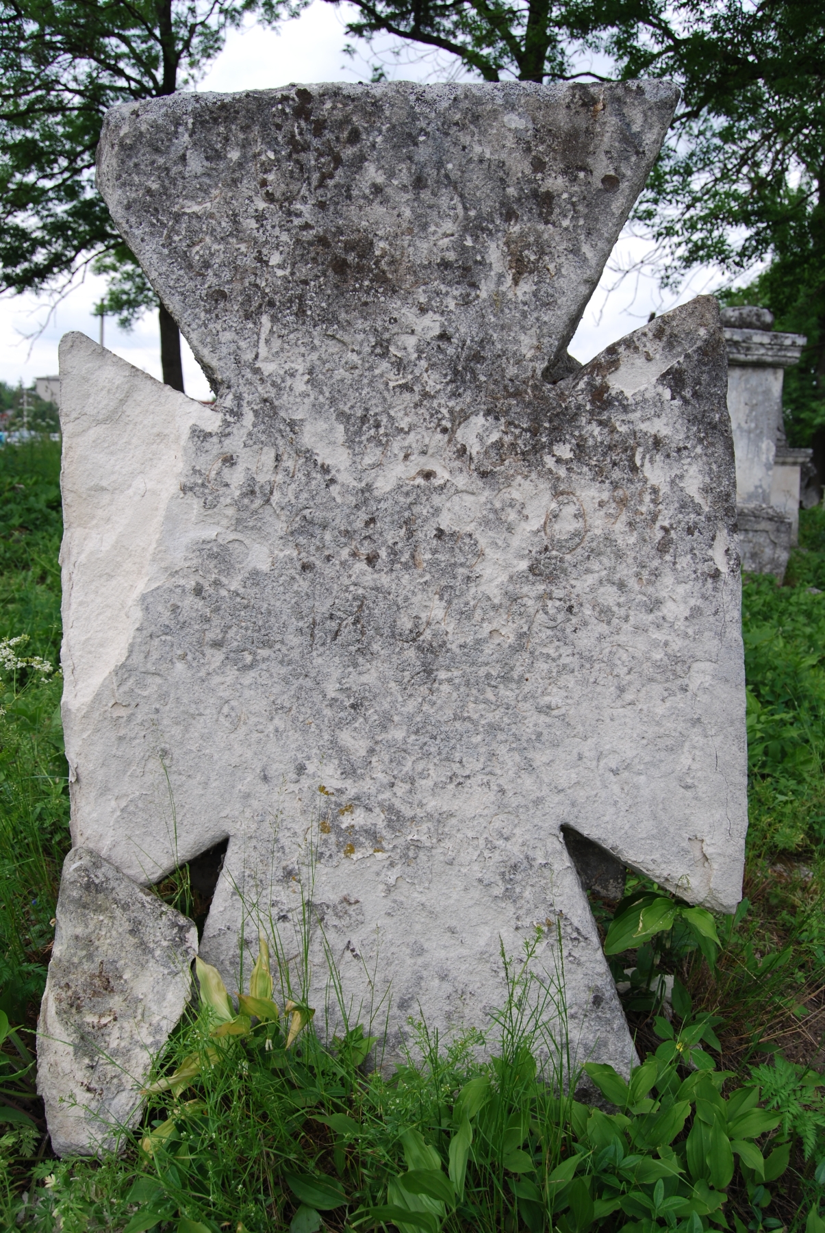
[[[112,279],[99,308],[158,307],[163,379],[183,390],[180,334],[95,190],[109,107],[195,84],[245,14],[303,0],[0,0],[0,290]]]

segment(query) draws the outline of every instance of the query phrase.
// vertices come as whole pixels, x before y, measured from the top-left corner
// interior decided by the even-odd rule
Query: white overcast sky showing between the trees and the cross
[[[221,55],[199,85],[199,90],[255,90],[312,81],[369,80],[370,64],[375,55],[364,46],[363,55],[344,54],[344,44],[350,42],[344,33],[345,6],[338,9],[326,0],[314,2],[301,17],[287,21],[279,32],[248,27],[232,32]],[[379,48],[387,75],[406,80],[460,79],[455,62],[435,58],[416,60],[404,49],[395,58],[391,46]],[[390,53],[390,54],[387,54]],[[622,338],[647,321],[651,311],[661,312],[694,295],[710,290],[718,280],[705,271],[698,271],[679,296],[659,292],[650,276],[625,277],[620,286],[610,266],[626,268],[644,254],[644,245],[634,238],[622,238],[608,263],[601,286],[593,295],[576,337],[571,343],[572,354],[587,361],[608,343]],[[35,296],[0,298],[0,379],[16,385],[36,376],[57,372],[57,348],[62,334],[79,329],[91,338],[99,338],[100,321],[91,316],[91,308],[100,298],[104,280],[91,275],[79,284],[54,308],[48,317],[49,305]],[[32,338],[48,318],[39,337]],[[133,330],[120,330],[113,321],[105,322],[105,345],[134,364],[137,367],[160,376],[158,323],[155,313],[147,313]],[[210,396],[203,374],[184,343],[184,380],[186,392],[194,398]]]

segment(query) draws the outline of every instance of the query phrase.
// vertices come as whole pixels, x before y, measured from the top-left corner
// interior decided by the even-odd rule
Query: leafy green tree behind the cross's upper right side
[[[337,0],[332,0],[337,2]],[[485,80],[666,76],[683,97],[635,221],[657,272],[696,265],[809,345],[788,381],[789,434],[825,467],[825,6],[810,0],[353,0],[348,30],[459,58]],[[582,72],[585,52],[603,72]],[[380,73],[380,69],[376,72]],[[823,475],[825,478],[825,475]]]

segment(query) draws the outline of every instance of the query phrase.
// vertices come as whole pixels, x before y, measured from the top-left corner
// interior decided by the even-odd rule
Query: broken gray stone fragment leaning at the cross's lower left
[[[37,1025],[37,1090],[58,1155],[111,1150],[137,1123],[196,953],[190,920],[96,852],[69,852]]]

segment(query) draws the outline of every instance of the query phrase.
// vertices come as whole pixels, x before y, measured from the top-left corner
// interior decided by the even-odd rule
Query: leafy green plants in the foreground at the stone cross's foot
[[[585,1063],[559,1086],[564,1059],[535,1034],[546,975],[534,956],[508,965],[486,1037],[444,1049],[419,1027],[417,1060],[390,1078],[365,1065],[377,1041],[361,1025],[326,1048],[306,1004],[279,1010],[265,938],[237,1010],[199,963],[199,1012],[146,1089],[146,1127],[125,1132],[121,1158],[38,1166],[16,1216],[122,1233],[778,1228],[767,1213],[795,1131],[766,1107],[774,1076],[731,1083],[679,989],[681,1026],[657,1020],[662,1041],[629,1080]],[[604,1107],[576,1099],[582,1080]],[[815,1206],[805,1218],[821,1233]]]

